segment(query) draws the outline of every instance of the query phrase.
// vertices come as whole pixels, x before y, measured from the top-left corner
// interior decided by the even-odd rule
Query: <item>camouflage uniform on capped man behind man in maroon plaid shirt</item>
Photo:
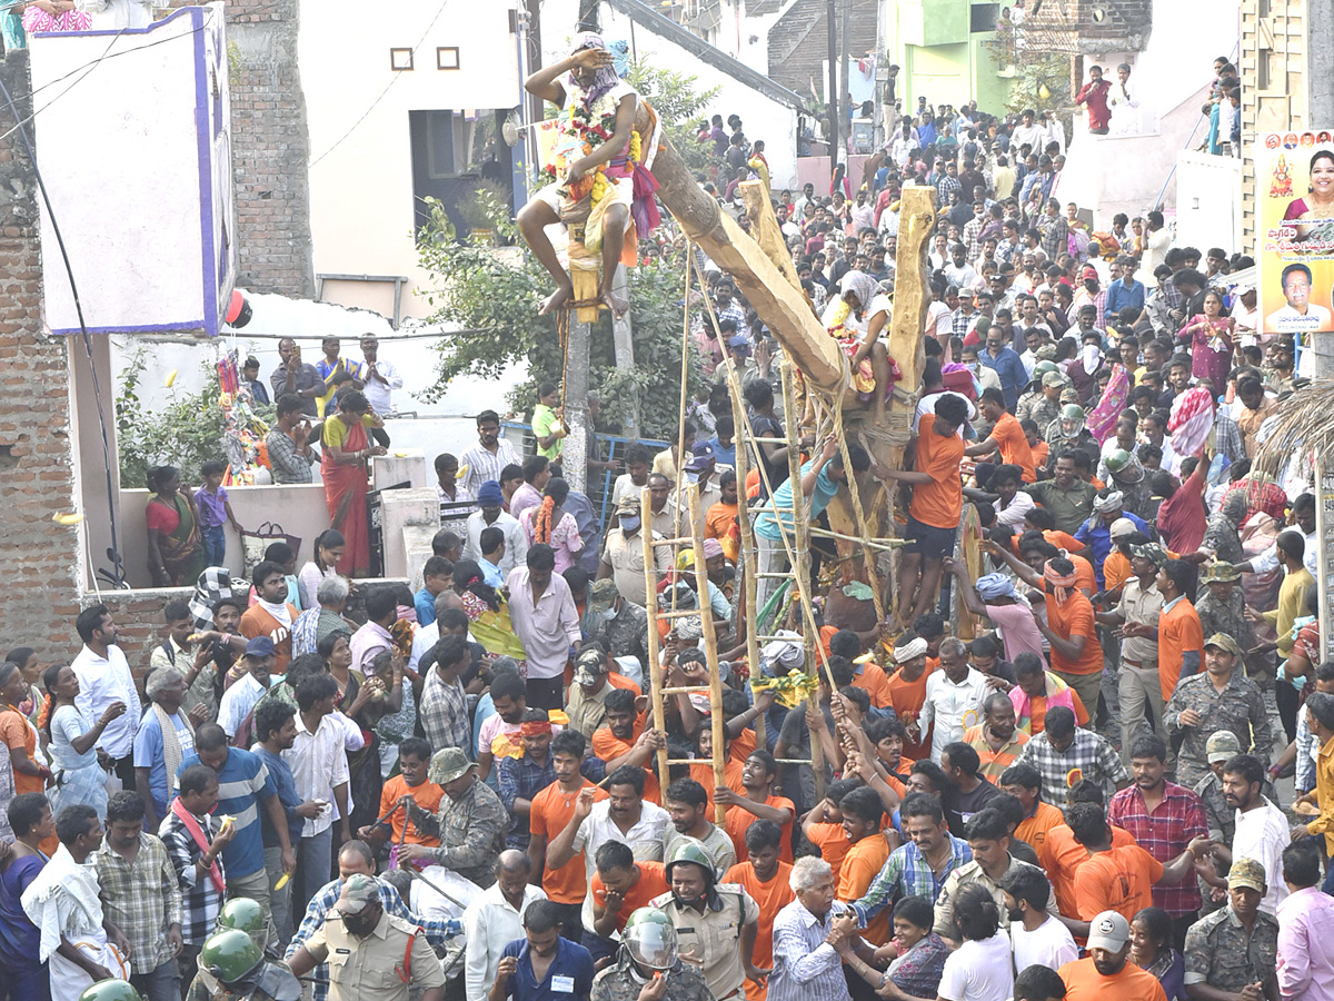
[[[1187,709],[1199,713],[1199,726],[1181,726],[1178,719]],[[1251,746],[1251,730],[1254,729],[1255,746],[1250,753],[1259,758],[1265,767],[1269,767],[1270,755],[1274,751],[1274,731],[1269,725],[1269,710],[1265,707],[1265,697],[1255,682],[1243,674],[1239,658],[1233,669],[1233,677],[1222,693],[1214,689],[1207,673],[1182,678],[1163,710],[1163,717],[1167,721],[1169,734],[1173,737],[1185,734],[1177,753],[1177,781],[1187,789],[1194,789],[1209,773],[1206,743],[1209,737],[1218,730],[1231,730],[1237,734],[1242,750],[1246,750]]]

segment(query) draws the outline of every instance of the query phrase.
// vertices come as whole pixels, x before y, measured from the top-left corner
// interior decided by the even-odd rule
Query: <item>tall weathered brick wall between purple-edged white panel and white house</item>
[[[193,0],[172,0],[188,7]],[[315,298],[299,0],[229,0],[237,284]]]

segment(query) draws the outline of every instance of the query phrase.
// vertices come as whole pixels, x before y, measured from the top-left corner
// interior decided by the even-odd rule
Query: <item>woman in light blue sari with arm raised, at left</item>
[[[72,667],[48,667],[43,683],[51,693],[51,715],[43,721],[55,770],[47,797],[51,810],[59,814],[64,806],[85,803],[101,817],[107,813],[107,773],[97,763],[97,741],[112,719],[124,715],[125,703],[113,702],[92,721],[75,705],[79,677]]]

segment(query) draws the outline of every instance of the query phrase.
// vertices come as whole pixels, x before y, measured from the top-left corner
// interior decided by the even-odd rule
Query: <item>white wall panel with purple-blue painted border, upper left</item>
[[[236,232],[223,4],[119,35],[39,35],[31,51],[37,165],[87,327],[216,331],[235,275],[221,222]],[[45,320],[77,331],[52,219],[39,204]]]

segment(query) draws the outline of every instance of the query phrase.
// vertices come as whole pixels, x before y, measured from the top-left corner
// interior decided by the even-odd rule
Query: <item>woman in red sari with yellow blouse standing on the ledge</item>
[[[371,410],[356,390],[338,398],[339,410],[324,420],[320,442],[320,475],[324,479],[324,503],[329,521],[347,543],[338,571],[343,575],[371,569],[371,541],[366,521],[366,492],[370,488],[366,459],[384,455],[383,444],[371,444],[368,427],[384,427],[384,420]]]

